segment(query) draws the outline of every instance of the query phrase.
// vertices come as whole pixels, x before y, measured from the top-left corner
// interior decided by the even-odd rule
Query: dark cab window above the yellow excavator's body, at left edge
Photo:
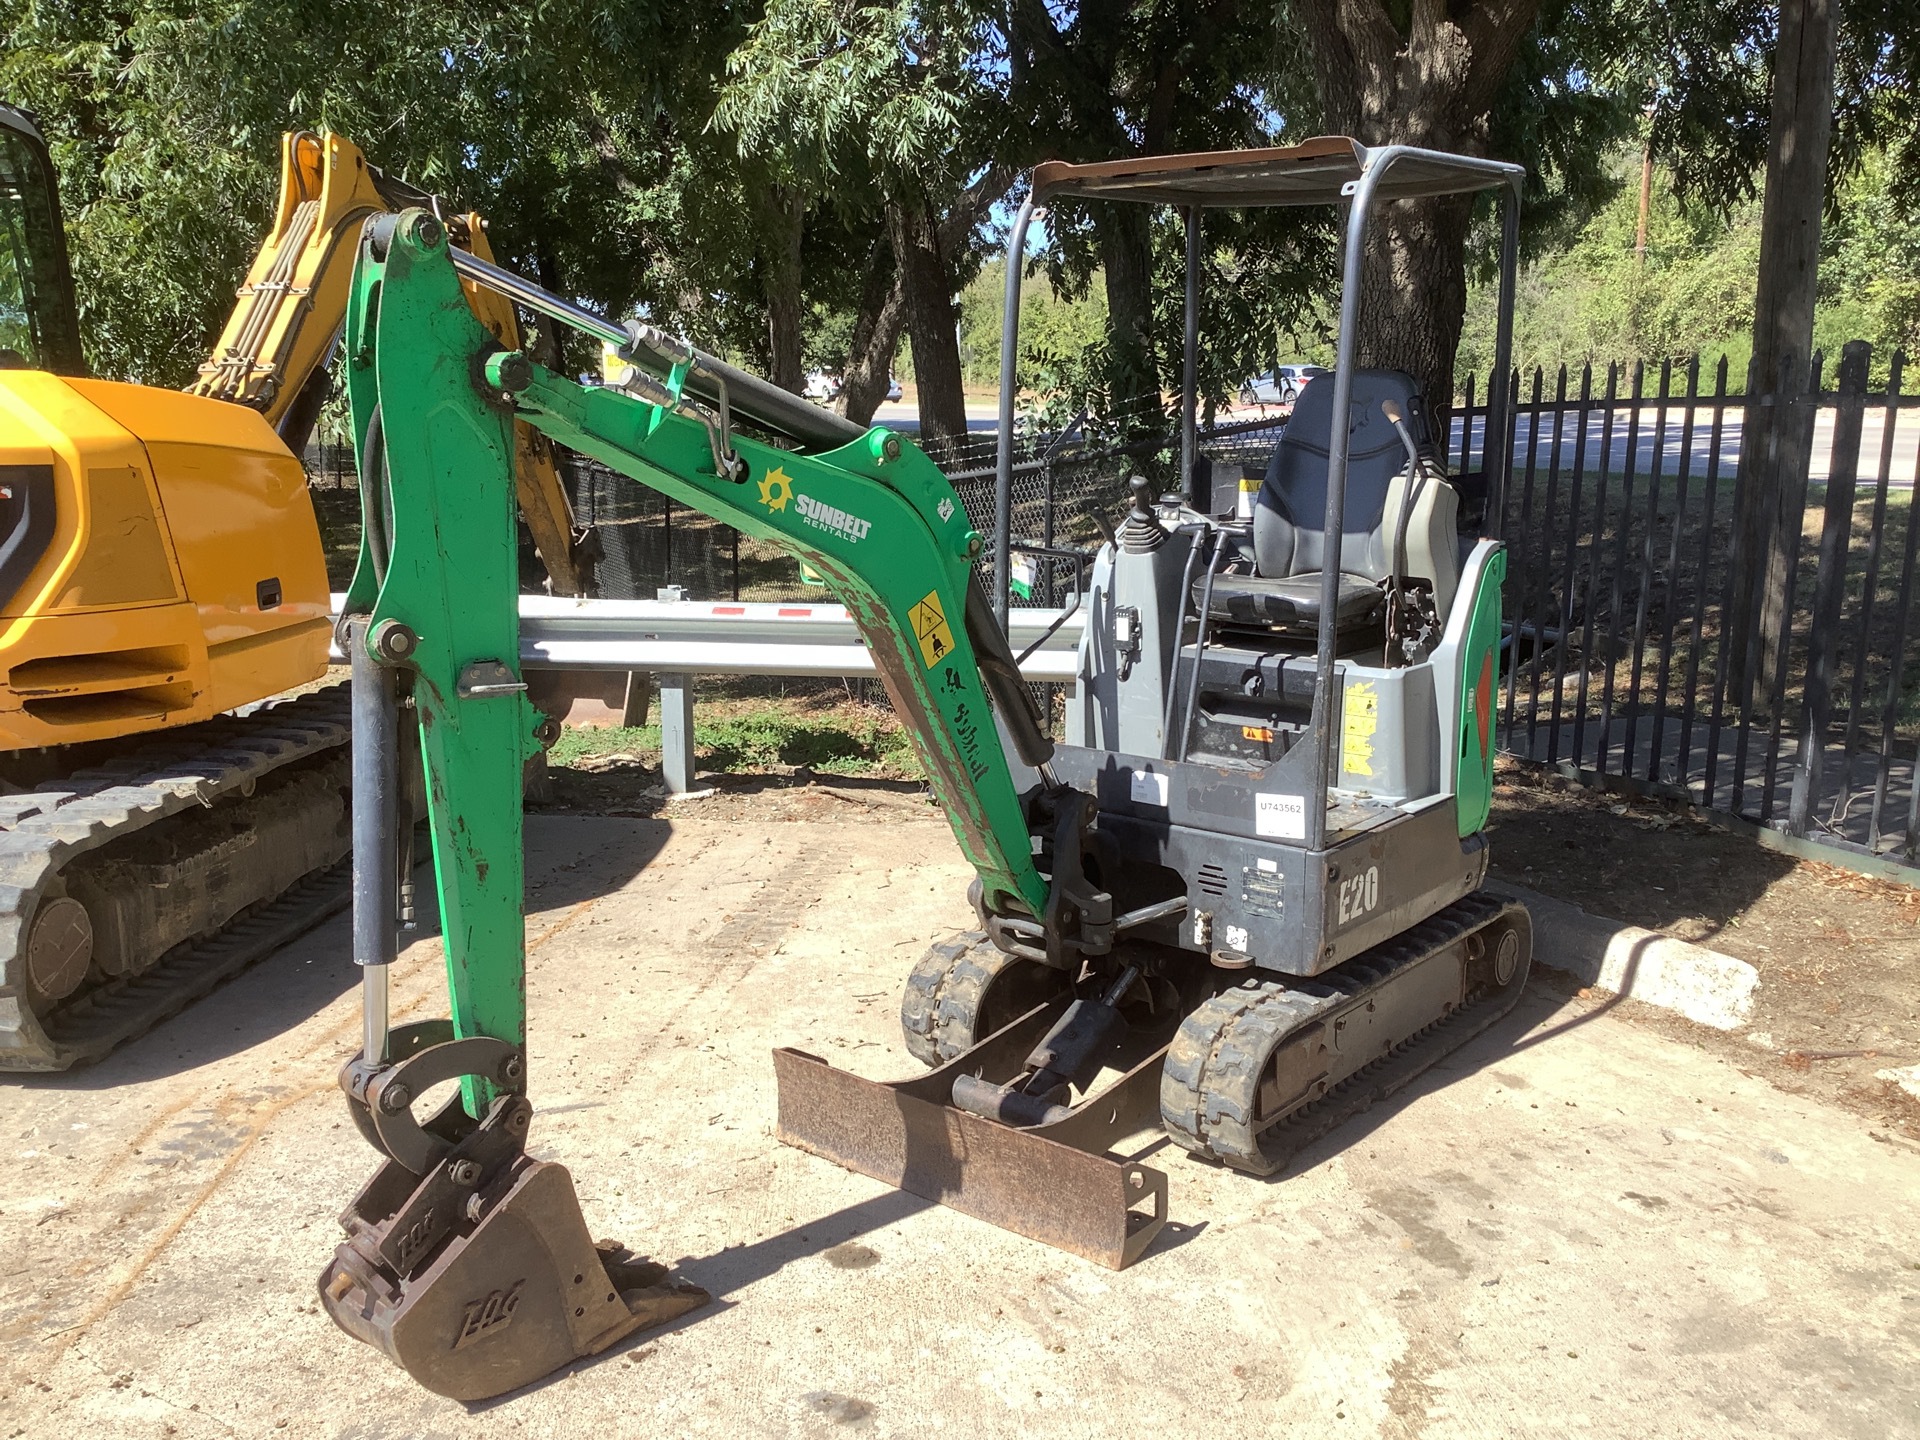
[[[81,326],[46,142],[0,106],[0,369],[79,374]]]

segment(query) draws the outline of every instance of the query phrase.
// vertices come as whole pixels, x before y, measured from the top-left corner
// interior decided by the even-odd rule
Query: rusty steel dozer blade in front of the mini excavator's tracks
[[[868,1081],[803,1050],[774,1050],[778,1137],[989,1225],[1110,1269],[1131,1265],[1167,1223],[1167,1177],[1108,1154],[1160,1114],[1154,1050],[1052,1125],[1014,1129],[954,1108],[956,1075],[1020,1071],[1064,1002],[1029,1010],[966,1054],[906,1081]]]

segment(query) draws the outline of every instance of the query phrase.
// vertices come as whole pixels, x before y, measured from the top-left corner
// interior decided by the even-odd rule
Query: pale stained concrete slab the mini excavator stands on
[[[1546,991],[1279,1181],[1158,1152],[1181,1225],[1123,1273],[778,1146],[768,1048],[908,1069],[900,981],[966,920],[924,804],[795,808],[532,824],[536,1148],[714,1306],[474,1409],[334,1331],[334,925],[0,1089],[0,1434],[1920,1430],[1920,1152]]]

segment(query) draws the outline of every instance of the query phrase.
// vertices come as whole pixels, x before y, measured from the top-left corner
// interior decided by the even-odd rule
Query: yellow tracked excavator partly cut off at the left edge
[[[348,703],[301,453],[363,223],[426,205],[282,144],[273,228],[188,392],[88,378],[54,165],[0,106],[0,1069],[65,1069],[346,904]],[[511,301],[468,290],[518,344]],[[549,444],[518,495],[580,593]],[[263,705],[286,691],[296,699]]]

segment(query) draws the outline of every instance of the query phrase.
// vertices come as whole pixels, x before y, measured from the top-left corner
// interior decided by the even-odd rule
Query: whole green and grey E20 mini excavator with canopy
[[[1008,248],[996,597],[983,536],[900,436],[614,326],[451,248],[428,211],[369,221],[344,351],[363,541],[340,620],[367,1025],[342,1087],[384,1164],[321,1277],[328,1313],[478,1400],[705,1300],[595,1246],[564,1167],[526,1154],[520,774],[541,722],[518,659],[516,420],[826,576],[975,870],[975,929],[906,979],[906,1048],[929,1069],[883,1085],[778,1050],[781,1140],[1121,1267],[1167,1219],[1137,1137],[1267,1175],[1505,1014],[1532,952],[1526,912],[1480,889],[1505,396],[1484,474],[1450,476],[1419,386],[1357,367],[1356,332],[1361,305],[1396,303],[1359,286],[1377,207],[1490,190],[1505,374],[1519,179],[1344,138],[1041,165]],[[1252,516],[1131,482],[1054,741],[1002,620],[1025,230],[1066,198],[1185,215],[1185,478],[1206,209],[1344,204],[1346,276],[1338,361],[1300,394]],[[616,344],[630,378],[582,386],[505,349],[463,280]],[[394,1027],[419,791],[451,1014]],[[417,1114],[447,1081],[459,1094]]]

